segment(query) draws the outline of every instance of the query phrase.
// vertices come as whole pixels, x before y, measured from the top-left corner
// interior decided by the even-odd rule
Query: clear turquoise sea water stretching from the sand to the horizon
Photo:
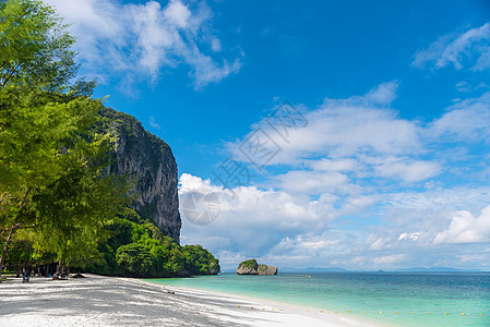
[[[150,281],[298,304],[395,326],[490,326],[488,272],[220,274]]]

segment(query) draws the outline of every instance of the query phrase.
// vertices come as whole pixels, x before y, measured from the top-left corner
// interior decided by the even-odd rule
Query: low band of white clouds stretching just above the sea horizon
[[[223,258],[226,269],[249,257],[283,267],[409,267],[420,266],[422,254],[423,263],[431,266],[440,259],[440,252],[432,252],[431,246],[442,244],[434,244],[433,240],[451,225],[451,213],[458,207],[488,205],[490,196],[488,187],[459,187],[350,196],[338,206],[339,197],[328,193],[311,201],[287,190],[247,186],[234,189],[236,197],[231,198],[227,190],[212,185],[210,180],[183,173],[180,197],[193,190],[218,194],[222,210],[207,226],[194,226],[182,215],[182,241],[208,247]],[[362,218],[363,213],[366,218]],[[369,222],[371,233],[367,239],[363,228],[347,225],[332,229],[333,225],[338,226],[336,219],[351,215],[358,217],[351,223],[362,226],[372,215],[382,222]],[[481,225],[475,228],[483,230]],[[488,228],[486,233],[490,235]]]

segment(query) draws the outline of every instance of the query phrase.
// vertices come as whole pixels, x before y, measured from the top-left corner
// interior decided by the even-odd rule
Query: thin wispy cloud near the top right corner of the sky
[[[435,69],[442,69],[452,63],[455,69],[461,70],[465,59],[478,58],[473,69],[489,69],[489,39],[490,23],[462,34],[445,35],[426,50],[417,52],[411,64],[423,68],[427,63],[431,63]]]

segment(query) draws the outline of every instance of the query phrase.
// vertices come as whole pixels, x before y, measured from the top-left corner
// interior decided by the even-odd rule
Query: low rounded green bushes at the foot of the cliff
[[[88,268],[91,272],[133,277],[176,277],[214,275],[219,263],[201,245],[180,246],[134,210],[108,225],[111,237],[99,243],[104,258]]]

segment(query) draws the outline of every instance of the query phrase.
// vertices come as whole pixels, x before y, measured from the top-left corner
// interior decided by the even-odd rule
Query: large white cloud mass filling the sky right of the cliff
[[[210,244],[230,265],[251,256],[354,269],[450,263],[437,247],[461,226],[446,231],[452,215],[488,206],[490,189],[467,185],[473,168],[464,155],[475,158],[471,144],[487,140],[490,96],[458,100],[423,123],[401,119],[391,107],[397,86],[383,83],[362,96],[298,106],[287,114],[275,108],[279,118],[259,121],[243,141],[228,144],[250,169],[258,166],[251,159],[273,155],[255,185],[226,190],[181,177],[181,196],[186,185],[203,183],[220,187],[214,190],[222,198],[236,196],[224,201],[215,222],[202,229],[184,222],[182,233]],[[447,167],[456,159],[461,167]],[[466,184],[445,184],[449,173],[466,177]]]

